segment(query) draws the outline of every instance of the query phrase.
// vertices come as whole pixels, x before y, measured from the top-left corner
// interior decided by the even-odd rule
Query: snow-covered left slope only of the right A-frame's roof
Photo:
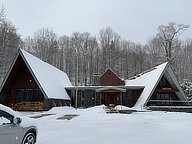
[[[167,64],[168,62],[165,62],[159,66],[156,66],[155,68],[145,71],[125,81],[126,86],[145,86],[134,108],[140,109],[145,105],[145,102],[147,101],[148,97],[150,97],[155,85],[162,76]]]

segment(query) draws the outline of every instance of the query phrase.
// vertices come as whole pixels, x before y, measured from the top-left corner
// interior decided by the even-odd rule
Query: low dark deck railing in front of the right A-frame
[[[149,100],[147,106],[192,106],[192,101]]]

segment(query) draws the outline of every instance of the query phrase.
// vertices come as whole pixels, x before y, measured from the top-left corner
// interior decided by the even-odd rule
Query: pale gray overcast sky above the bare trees
[[[168,22],[191,27],[183,38],[192,37],[192,0],[0,0],[7,17],[22,37],[42,27],[58,35],[90,32],[110,26],[123,39],[145,44]]]

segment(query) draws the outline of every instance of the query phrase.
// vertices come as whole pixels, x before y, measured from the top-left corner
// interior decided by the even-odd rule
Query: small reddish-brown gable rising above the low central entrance
[[[111,69],[108,69],[100,77],[101,86],[122,86],[125,82],[122,81]]]

